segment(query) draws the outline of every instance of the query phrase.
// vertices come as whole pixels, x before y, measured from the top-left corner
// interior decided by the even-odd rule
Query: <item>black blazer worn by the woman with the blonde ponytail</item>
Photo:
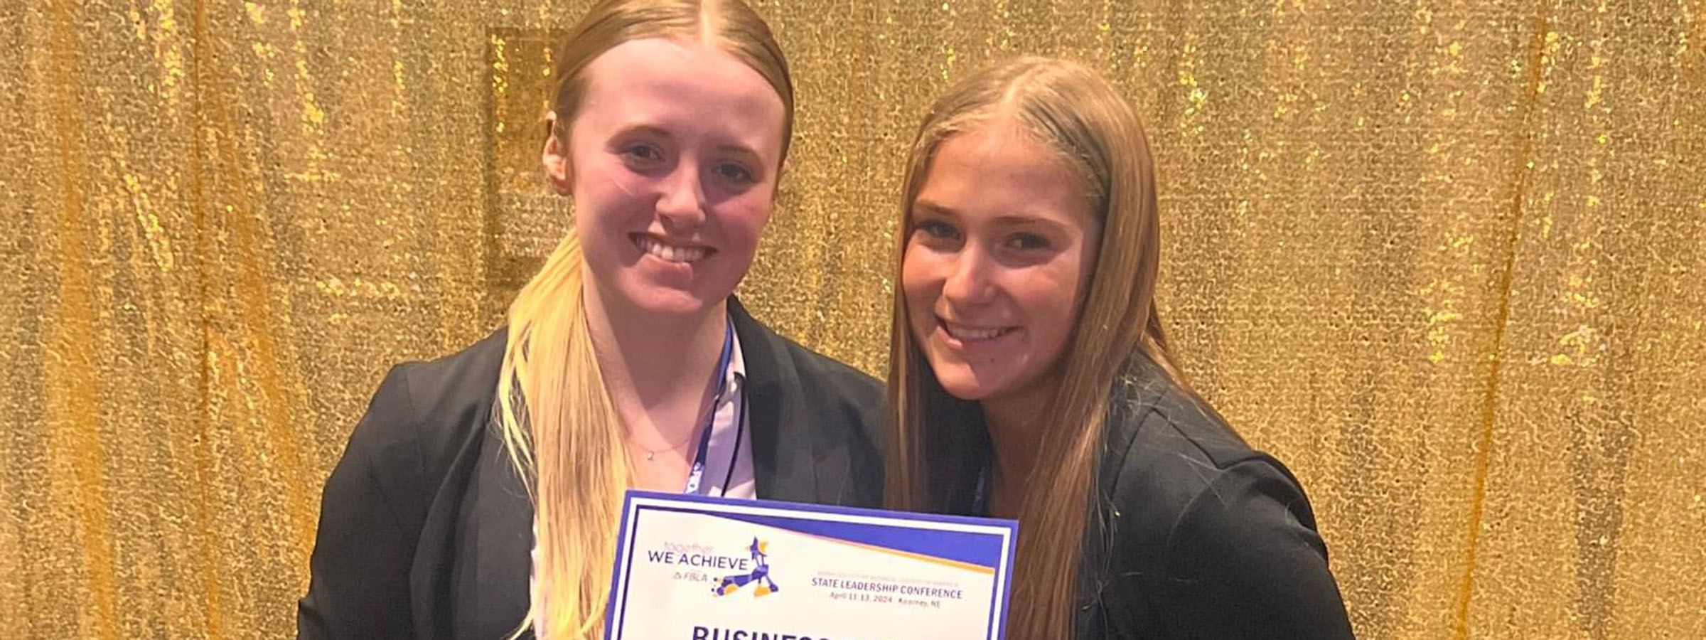
[[[739,302],[757,495],[882,503],[882,387]],[[304,640],[505,638],[527,613],[532,503],[493,428],[498,331],[379,384],[321,502]],[[614,532],[612,532],[614,534]]]

